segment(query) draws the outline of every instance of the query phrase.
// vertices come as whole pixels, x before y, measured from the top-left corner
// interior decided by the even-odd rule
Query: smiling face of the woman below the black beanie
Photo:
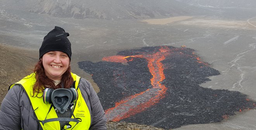
[[[42,57],[45,75],[52,80],[61,80],[69,67],[69,57],[61,51],[50,51]]]

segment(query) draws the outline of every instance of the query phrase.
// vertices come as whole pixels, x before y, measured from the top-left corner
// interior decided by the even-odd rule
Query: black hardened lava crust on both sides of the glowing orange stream
[[[164,129],[182,125],[220,122],[236,111],[254,108],[254,101],[245,94],[229,90],[213,90],[199,86],[219,75],[218,70],[200,61],[190,48],[174,48],[162,61],[165,79],[161,82],[168,89],[159,103],[145,111],[121,121],[153,125]],[[161,46],[125,50],[117,55],[154,55]],[[92,74],[100,87],[98,96],[104,110],[112,108],[121,99],[152,87],[152,75],[145,58],[126,58],[128,65],[116,62],[78,62],[85,72]]]

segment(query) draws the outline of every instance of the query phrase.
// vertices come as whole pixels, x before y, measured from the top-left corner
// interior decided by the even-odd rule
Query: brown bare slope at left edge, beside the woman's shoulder
[[[0,44],[0,103],[7,93],[9,86],[32,70],[38,60],[35,50]]]

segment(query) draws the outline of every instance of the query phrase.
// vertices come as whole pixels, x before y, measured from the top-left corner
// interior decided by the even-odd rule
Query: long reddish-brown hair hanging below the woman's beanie
[[[69,63],[70,63],[70,61],[69,61]],[[60,84],[55,86],[54,80],[49,79],[45,75],[45,69],[43,68],[43,62],[41,59],[36,63],[34,72],[36,74],[36,82],[33,87],[33,95],[32,95],[33,97],[37,97],[38,93],[43,92],[46,87],[45,85],[47,85],[47,88],[51,88],[51,89],[61,88]],[[67,68],[67,71],[62,75],[61,80],[64,82],[64,88],[70,88],[70,86],[73,84],[74,79],[71,76],[70,65]],[[40,98],[40,97],[38,97],[38,98]]]

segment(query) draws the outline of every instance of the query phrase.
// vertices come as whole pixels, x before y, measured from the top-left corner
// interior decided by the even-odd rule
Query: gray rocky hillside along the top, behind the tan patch
[[[140,19],[202,14],[176,0],[1,0],[0,8],[77,19]]]

